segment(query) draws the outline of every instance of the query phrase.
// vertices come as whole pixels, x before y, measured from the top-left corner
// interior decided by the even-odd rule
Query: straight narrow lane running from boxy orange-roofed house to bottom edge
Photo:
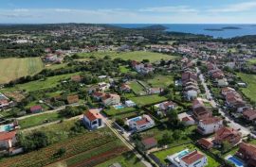
[[[116,127],[113,125],[113,122],[106,117],[104,117],[105,125],[107,125],[113,133],[120,139],[121,142],[123,142],[130,150],[132,150],[138,159],[146,166],[146,167],[153,167],[151,163],[149,163],[147,160],[145,160],[139,153],[137,153],[135,149],[135,145],[130,142],[129,138],[126,138],[119,134],[119,131],[116,129]],[[156,164],[155,164],[156,165]],[[156,165],[157,166],[157,165]]]

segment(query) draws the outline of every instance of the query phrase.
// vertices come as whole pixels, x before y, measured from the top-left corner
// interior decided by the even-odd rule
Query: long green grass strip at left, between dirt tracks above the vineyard
[[[19,120],[19,125],[21,125],[21,128],[27,128],[35,125],[42,125],[46,120],[52,122],[62,118],[63,117],[58,112],[44,113],[42,115],[34,115],[26,119]]]

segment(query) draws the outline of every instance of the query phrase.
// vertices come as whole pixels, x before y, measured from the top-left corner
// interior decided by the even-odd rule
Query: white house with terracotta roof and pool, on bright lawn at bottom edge
[[[197,150],[182,150],[172,156],[167,156],[176,167],[204,167],[208,165],[208,159]]]

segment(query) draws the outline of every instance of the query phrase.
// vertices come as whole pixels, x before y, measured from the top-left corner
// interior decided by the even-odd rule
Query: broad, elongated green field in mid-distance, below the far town
[[[136,52],[94,52],[94,53],[80,53],[78,54],[81,58],[90,58],[94,56],[96,58],[104,58],[105,56],[110,56],[110,58],[122,58],[122,59],[132,59],[141,61],[143,59],[149,59],[151,62],[158,61],[160,59],[174,59],[176,57],[170,55],[164,55],[153,52],[145,52],[145,51],[136,51]]]

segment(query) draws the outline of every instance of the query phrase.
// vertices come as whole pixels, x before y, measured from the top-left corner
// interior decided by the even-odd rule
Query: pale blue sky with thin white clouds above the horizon
[[[0,24],[255,24],[256,0],[0,0]]]

